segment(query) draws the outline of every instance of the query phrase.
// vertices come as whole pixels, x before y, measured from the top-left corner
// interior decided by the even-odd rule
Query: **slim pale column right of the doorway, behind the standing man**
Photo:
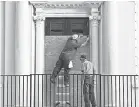
[[[99,20],[100,16],[98,15],[98,12],[95,10],[91,10],[91,16],[90,19],[90,33],[91,33],[91,54],[92,54],[92,62],[94,63],[94,66],[96,68],[96,73],[99,73],[98,71],[98,36],[99,36]]]

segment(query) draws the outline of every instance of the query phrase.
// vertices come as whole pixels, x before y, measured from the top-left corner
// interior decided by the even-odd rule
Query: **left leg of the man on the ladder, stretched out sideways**
[[[58,75],[58,73],[60,72],[61,68],[62,68],[62,61],[59,59],[56,62],[56,66],[55,66],[53,73],[52,73],[52,76],[51,76],[51,82],[52,83],[55,83],[55,78]]]

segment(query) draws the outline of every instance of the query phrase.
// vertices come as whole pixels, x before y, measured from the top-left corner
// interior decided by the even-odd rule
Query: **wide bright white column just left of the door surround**
[[[31,73],[31,8],[28,1],[18,1],[16,8],[15,74],[28,75]]]

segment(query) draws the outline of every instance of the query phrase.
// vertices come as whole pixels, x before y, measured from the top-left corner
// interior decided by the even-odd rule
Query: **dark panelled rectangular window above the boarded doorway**
[[[74,33],[89,35],[88,18],[46,18],[46,36],[66,36]]]

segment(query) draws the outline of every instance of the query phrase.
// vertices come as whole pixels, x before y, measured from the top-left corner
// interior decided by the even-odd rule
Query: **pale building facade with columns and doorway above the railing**
[[[85,52],[98,74],[139,74],[137,7],[129,1],[0,1],[0,74],[51,73],[70,36],[46,35],[51,18],[88,19],[90,42],[79,50],[75,63]]]

